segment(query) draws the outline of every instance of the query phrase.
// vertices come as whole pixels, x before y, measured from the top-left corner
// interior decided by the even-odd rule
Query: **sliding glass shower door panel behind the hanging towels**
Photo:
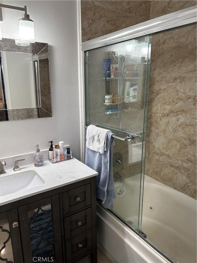
[[[111,210],[141,232],[151,35],[85,51],[86,125],[110,129],[115,139]]]

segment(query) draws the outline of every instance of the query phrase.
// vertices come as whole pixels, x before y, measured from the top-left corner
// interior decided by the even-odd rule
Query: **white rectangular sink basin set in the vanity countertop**
[[[0,196],[10,195],[44,184],[45,181],[34,170],[0,177]]]

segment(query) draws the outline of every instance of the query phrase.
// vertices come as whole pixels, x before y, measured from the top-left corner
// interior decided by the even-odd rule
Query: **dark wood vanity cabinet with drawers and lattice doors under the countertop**
[[[0,235],[9,223],[14,263],[74,263],[89,254],[97,262],[95,177],[6,204],[0,211]]]

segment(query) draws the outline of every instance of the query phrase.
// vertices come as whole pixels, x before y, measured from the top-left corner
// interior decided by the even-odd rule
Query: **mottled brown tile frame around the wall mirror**
[[[0,121],[52,117],[48,43],[35,42],[30,43],[29,46],[23,47],[17,46],[15,44],[15,39],[2,38],[2,40],[0,40],[0,51],[34,54],[38,55],[39,60],[39,84],[38,91],[35,92],[38,93],[36,99],[37,107],[26,109],[8,109],[5,107],[5,109],[0,109]],[[1,86],[4,85],[6,89],[3,80],[0,84]],[[2,94],[2,101],[3,95],[5,95],[5,92]]]

